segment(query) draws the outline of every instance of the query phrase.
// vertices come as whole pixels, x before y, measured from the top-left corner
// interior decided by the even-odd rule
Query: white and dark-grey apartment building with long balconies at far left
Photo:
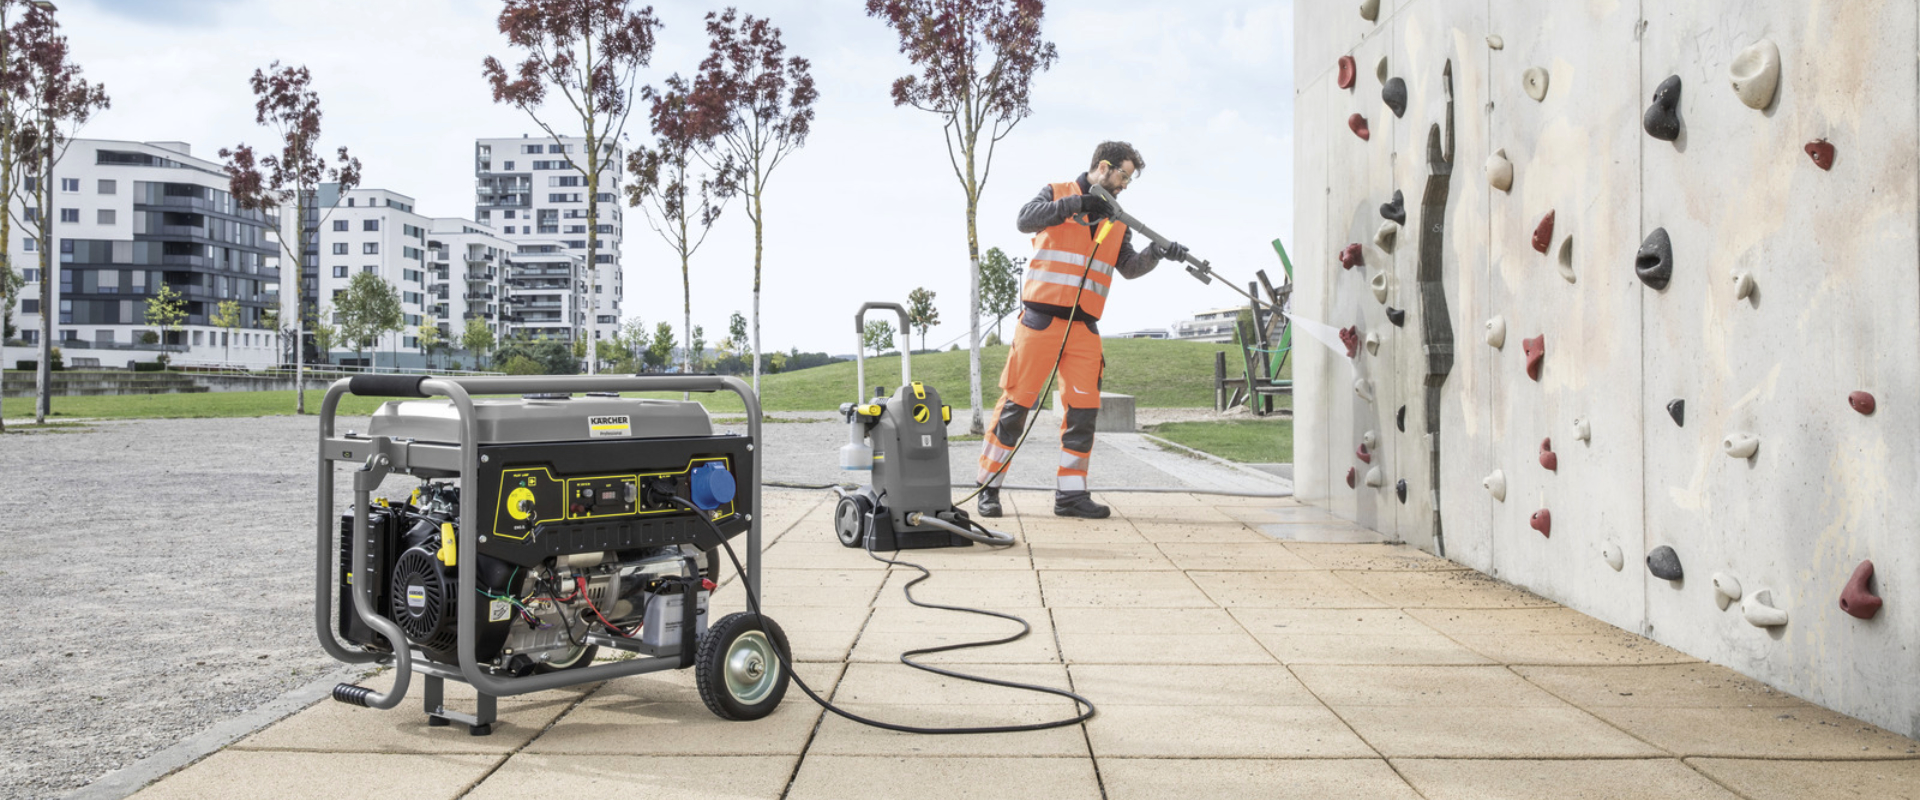
[[[29,178],[35,180],[35,178]],[[40,247],[33,224],[15,224],[10,259],[29,278],[15,295],[8,366],[38,359],[40,315],[56,313],[54,345],[67,366],[125,366],[167,353],[177,365],[278,363],[263,328],[278,307],[278,219],[244,211],[219,163],[192,157],[184,142],[77,138],[54,167],[52,230],[58,247],[48,297],[40,295]],[[15,219],[35,219],[15,200]],[[148,322],[161,288],[184,301],[179,330]],[[215,326],[223,303],[236,326]]]

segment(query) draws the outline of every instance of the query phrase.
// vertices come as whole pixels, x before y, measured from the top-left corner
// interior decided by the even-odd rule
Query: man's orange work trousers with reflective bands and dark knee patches
[[[1069,332],[1071,330],[1071,332]],[[1060,340],[1066,349],[1060,349]],[[1087,460],[1092,455],[1092,428],[1100,414],[1100,334],[1085,320],[1048,317],[1037,311],[1020,315],[1014,326],[1014,347],[1000,372],[1000,403],[987,420],[987,435],[979,453],[975,483],[1000,485],[1006,466],[1027,426],[1027,414],[1041,405],[1041,389],[1060,357],[1060,395],[1066,409],[1060,414],[1060,472],[1054,476],[1054,499],[1069,501],[1087,495]]]

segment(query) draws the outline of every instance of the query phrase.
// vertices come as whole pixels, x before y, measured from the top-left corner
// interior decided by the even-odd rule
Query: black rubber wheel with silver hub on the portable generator
[[[720,618],[701,639],[693,658],[693,683],[701,700],[720,719],[760,719],[787,696],[791,662],[787,635],[774,620],[735,612]]]

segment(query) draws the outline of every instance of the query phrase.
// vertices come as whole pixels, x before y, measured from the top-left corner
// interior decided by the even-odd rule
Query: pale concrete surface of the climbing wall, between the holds
[[[1296,487],[1302,499],[1440,551],[1615,625],[1732,666],[1830,708],[1920,735],[1920,13],[1914,0],[1851,2],[1555,2],[1382,0],[1377,21],[1356,4],[1296,6],[1296,311],[1334,328],[1377,332],[1379,355],[1296,351]],[[1488,36],[1503,48],[1488,46]],[[1759,38],[1780,48],[1780,84],[1763,109],[1728,81]],[[1354,56],[1352,90],[1336,86]],[[1407,82],[1402,119],[1380,100],[1375,67]],[[1453,178],[1440,219],[1421,213],[1430,175],[1427,132],[1444,125],[1442,69],[1453,71]],[[1544,67],[1546,98],[1523,88]],[[1684,132],[1642,130],[1655,86],[1680,75]],[[1369,121],[1371,140],[1348,130]],[[1837,148],[1820,171],[1803,146]],[[1505,150],[1509,192],[1486,180]],[[1407,224],[1386,253],[1373,246],[1379,205],[1405,196]],[[1549,253],[1534,226],[1555,213]],[[1419,230],[1442,224],[1440,272],[1455,336],[1440,389],[1438,476],[1425,460]],[[1653,290],[1634,253],[1667,228],[1674,274]],[[1572,282],[1559,269],[1571,244]],[[1363,244],[1367,267],[1338,251]],[[1390,276],[1384,317],[1367,280]],[[1730,274],[1759,290],[1736,299]],[[1484,340],[1503,317],[1507,341]],[[1538,382],[1521,341],[1546,336]],[[1357,376],[1375,401],[1356,397]],[[1851,391],[1878,397],[1872,416]],[[1686,424],[1667,412],[1686,401]],[[1407,432],[1394,412],[1407,407]],[[1592,439],[1574,439],[1574,418]],[[1365,476],[1354,449],[1380,434]],[[1751,432],[1755,459],[1722,439]],[[1549,439],[1557,472],[1540,466]],[[1482,480],[1501,470],[1505,501]],[[1407,503],[1394,482],[1407,480]],[[1438,489],[1442,541],[1427,510]],[[1423,506],[1423,503],[1428,503]],[[1528,518],[1551,510],[1551,537]],[[1672,547],[1682,581],[1647,574]],[[1615,572],[1603,549],[1624,553]],[[1885,606],[1872,620],[1839,610],[1855,566],[1872,558]],[[1745,593],[1770,589],[1784,627],[1720,610],[1713,574]]]

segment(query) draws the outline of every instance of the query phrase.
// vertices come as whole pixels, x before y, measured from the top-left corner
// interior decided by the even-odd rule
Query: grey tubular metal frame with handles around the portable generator
[[[733,376],[488,376],[488,378],[434,378],[434,376],[392,376],[392,374],[363,374],[353,378],[336,380],[326,388],[326,399],[321,401],[321,424],[319,424],[319,482],[317,482],[317,553],[315,553],[315,629],[321,639],[321,647],[328,656],[348,664],[369,664],[369,662],[392,662],[394,664],[394,687],[386,693],[376,693],[365,687],[346,685],[334,689],[334,696],[349,700],[369,708],[394,708],[407,696],[409,681],[415,671],[426,675],[426,716],[430,725],[463,723],[468,725],[472,735],[492,733],[492,725],[497,719],[497,698],[515,696],[526,693],[538,693],[547,689],[572,687],[580,683],[597,683],[614,677],[641,675],[660,670],[684,670],[693,666],[693,648],[684,647],[685,652],[670,652],[657,656],[641,656],[611,664],[595,664],[580,670],[551,671],[545,675],[493,675],[482,670],[478,658],[474,656],[474,641],[478,639],[476,624],[472,614],[457,614],[457,643],[459,670],[451,670],[442,664],[434,664],[422,654],[415,654],[415,647],[407,641],[405,631],[394,620],[380,616],[371,599],[372,581],[361,581],[353,585],[353,610],[355,614],[372,627],[382,639],[394,645],[394,652],[371,652],[359,650],[344,645],[334,635],[334,608],[332,608],[332,589],[336,579],[336,570],[340,568],[338,551],[334,551],[334,533],[338,529],[338,516],[334,510],[334,470],[340,462],[355,462],[359,468],[353,472],[353,506],[369,508],[372,501],[372,491],[388,474],[422,474],[422,476],[478,476],[480,474],[480,430],[474,416],[474,395],[528,395],[528,393],[574,393],[574,391],[733,391],[741,397],[747,407],[747,435],[749,451],[760,443],[760,401],[755,397],[753,388],[747,382]],[[434,441],[411,441],[411,439],[392,439],[384,435],[355,435],[348,432],[346,435],[336,435],[334,420],[340,407],[340,399],[346,395],[357,397],[394,397],[394,399],[424,399],[424,397],[447,397],[459,412],[461,441],[434,443]],[[747,581],[753,597],[760,597],[760,460],[751,459],[753,470],[749,476],[747,493],[751,497],[751,506],[747,516],[747,564],[741,579]],[[459,553],[480,553],[480,512],[478,503],[461,503],[459,512]],[[353,564],[367,562],[367,514],[353,514]],[[712,543],[720,547],[720,543]],[[457,564],[459,585],[470,587],[478,585],[476,558],[459,558]],[[689,608],[691,610],[691,608]],[[461,714],[445,708],[445,681],[461,681],[478,693],[478,704],[474,714]],[[346,693],[346,696],[342,696]]]

